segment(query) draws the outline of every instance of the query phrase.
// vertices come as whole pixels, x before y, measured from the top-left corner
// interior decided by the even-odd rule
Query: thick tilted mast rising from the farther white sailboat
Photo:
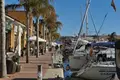
[[[88,0],[87,8],[86,8],[85,14],[84,14],[84,16],[83,16],[82,23],[81,23],[81,26],[80,26],[80,30],[79,30],[79,33],[78,33],[78,39],[80,38],[82,29],[83,29],[83,24],[84,24],[84,21],[85,21],[85,19],[86,19],[86,15],[87,15],[87,13],[88,13],[88,9],[89,9],[89,7],[90,7],[90,2],[91,2],[91,0]],[[78,39],[77,39],[77,42],[76,42],[76,44],[75,44],[73,53],[75,53],[75,49],[76,49],[77,44],[78,44]]]

